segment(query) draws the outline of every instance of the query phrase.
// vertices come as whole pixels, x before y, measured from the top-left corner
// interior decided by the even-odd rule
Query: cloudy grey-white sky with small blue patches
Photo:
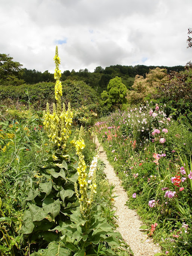
[[[53,73],[98,66],[185,66],[192,0],[0,0],[0,53]],[[191,35],[192,36],[192,35]]]

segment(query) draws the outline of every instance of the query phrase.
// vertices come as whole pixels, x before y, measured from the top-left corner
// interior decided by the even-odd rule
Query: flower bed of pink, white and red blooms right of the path
[[[176,223],[177,232],[181,231],[183,221],[190,228],[192,226],[189,218],[192,207],[192,170],[189,166],[192,164],[186,162],[192,147],[187,136],[191,138],[191,135],[186,132],[186,127],[179,127],[176,121],[167,117],[163,108],[159,104],[150,107],[147,103],[112,113],[95,124],[97,136],[103,138],[108,158],[128,190],[128,205],[139,208],[138,212],[148,222],[158,221],[156,232],[154,224],[151,226],[151,235],[156,239],[158,236],[169,239],[166,229],[169,231]],[[183,162],[185,152],[188,154]],[[173,251],[173,255],[180,255],[185,250],[184,238],[177,232],[170,238],[171,250],[164,241],[159,241],[167,252]],[[185,239],[191,244],[190,235],[187,234]],[[191,249],[187,250],[191,253]]]

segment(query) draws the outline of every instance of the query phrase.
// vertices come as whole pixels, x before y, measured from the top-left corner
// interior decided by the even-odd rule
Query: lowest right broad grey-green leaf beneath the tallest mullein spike
[[[55,217],[59,214],[60,209],[61,209],[61,204],[59,199],[54,201],[51,198],[45,198],[43,200],[43,209],[45,212],[48,214],[51,214],[51,218],[55,219]]]

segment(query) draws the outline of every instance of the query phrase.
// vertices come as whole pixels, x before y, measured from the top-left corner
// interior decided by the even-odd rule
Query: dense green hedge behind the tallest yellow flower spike
[[[93,110],[98,111],[101,104],[100,96],[97,92],[83,81],[66,80],[62,82],[62,101],[65,105],[71,103],[73,108],[81,105],[93,105]],[[12,99],[13,101],[28,101],[25,89],[28,89],[30,102],[39,108],[45,108],[46,103],[53,102],[55,98],[55,83],[43,82],[37,84],[23,84],[21,86],[0,86],[0,100]]]

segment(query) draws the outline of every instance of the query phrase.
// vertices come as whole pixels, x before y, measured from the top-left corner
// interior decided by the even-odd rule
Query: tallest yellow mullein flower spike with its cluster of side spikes
[[[43,111],[44,118],[44,129],[47,132],[47,135],[50,141],[58,146],[58,148],[66,147],[66,140],[71,134],[71,124],[73,113],[71,112],[70,103],[68,103],[68,110],[65,110],[65,104],[61,107],[61,96],[62,96],[62,84],[59,80],[61,77],[61,70],[59,70],[60,58],[58,56],[58,47],[56,46],[55,50],[55,73],[54,78],[55,83],[55,99],[57,104],[53,103],[53,111],[50,112],[49,104],[47,103],[46,111]]]

